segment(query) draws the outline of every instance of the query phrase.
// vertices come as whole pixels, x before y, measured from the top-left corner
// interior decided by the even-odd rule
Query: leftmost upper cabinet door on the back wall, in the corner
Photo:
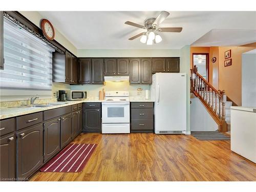
[[[91,59],[79,59],[79,83],[91,84]]]

